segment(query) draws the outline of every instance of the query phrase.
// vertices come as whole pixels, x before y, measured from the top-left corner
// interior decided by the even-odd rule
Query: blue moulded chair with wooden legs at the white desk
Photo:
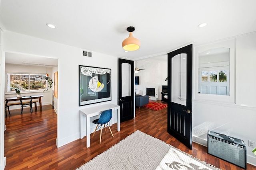
[[[111,118],[112,118],[112,109],[109,109],[109,110],[103,111],[101,113],[99,119],[96,119],[96,120],[92,121],[92,123],[97,124],[92,137],[94,137],[94,134],[95,134],[95,132],[96,132],[96,130],[98,128],[100,130],[100,142],[101,142],[102,125],[104,125],[105,131],[106,131],[106,127],[108,127],[108,129],[111,132],[112,137],[114,137],[114,135],[113,135],[113,133],[112,133],[112,131],[111,131],[109,125],[108,125],[108,122],[110,121]]]

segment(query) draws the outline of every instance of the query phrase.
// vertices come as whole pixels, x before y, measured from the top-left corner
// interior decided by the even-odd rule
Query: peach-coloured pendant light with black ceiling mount
[[[133,37],[132,32],[135,30],[134,27],[127,27],[127,31],[130,32],[128,38],[122,42],[122,47],[126,51],[136,51],[140,48],[140,40]]]

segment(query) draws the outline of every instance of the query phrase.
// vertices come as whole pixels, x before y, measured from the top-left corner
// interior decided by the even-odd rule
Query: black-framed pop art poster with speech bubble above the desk
[[[111,69],[79,65],[79,106],[111,100]]]

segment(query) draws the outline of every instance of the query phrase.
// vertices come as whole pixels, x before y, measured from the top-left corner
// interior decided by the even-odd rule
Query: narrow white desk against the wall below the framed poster
[[[84,122],[82,121],[82,116],[86,117],[86,146],[90,147],[90,117],[100,115],[102,111],[112,109],[112,114],[114,110],[118,110],[117,113],[117,131],[120,131],[120,106],[115,104],[104,104],[100,106],[90,107],[80,110],[80,139],[84,138],[83,129]]]

